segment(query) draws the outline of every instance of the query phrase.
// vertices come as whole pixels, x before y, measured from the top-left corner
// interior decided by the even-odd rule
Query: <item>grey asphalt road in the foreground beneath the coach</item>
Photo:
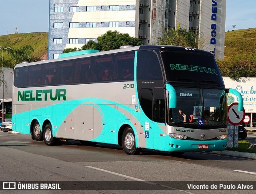
[[[82,190],[67,193],[255,193],[255,164],[253,159],[206,152],[186,152],[177,158],[146,149],[129,156],[120,146],[82,146],[77,141],[46,146],[43,141],[31,140],[30,135],[0,131],[0,181],[75,181],[77,188],[82,184]],[[188,190],[187,183],[254,184],[254,190]]]

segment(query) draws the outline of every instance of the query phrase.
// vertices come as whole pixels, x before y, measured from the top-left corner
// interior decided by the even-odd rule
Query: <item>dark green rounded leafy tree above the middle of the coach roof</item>
[[[138,40],[138,38],[130,37],[127,33],[120,33],[109,30],[102,36],[98,36],[97,42],[90,40],[87,44],[82,46],[82,50],[86,49],[97,49],[101,51],[108,51],[119,49],[120,46],[140,46],[143,45],[142,42]]]

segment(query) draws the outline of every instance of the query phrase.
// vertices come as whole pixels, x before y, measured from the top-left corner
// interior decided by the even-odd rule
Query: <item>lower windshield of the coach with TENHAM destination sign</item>
[[[170,124],[190,127],[226,127],[226,95],[223,90],[174,87],[177,107],[169,109]],[[188,126],[187,126],[188,127]]]

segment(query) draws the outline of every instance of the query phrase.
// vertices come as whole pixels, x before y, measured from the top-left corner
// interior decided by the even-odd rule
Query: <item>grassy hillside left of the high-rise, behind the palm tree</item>
[[[20,48],[23,45],[32,46],[34,48],[35,57],[48,59],[48,32],[32,32],[0,36],[0,46]],[[10,59],[5,53],[4,58]]]

